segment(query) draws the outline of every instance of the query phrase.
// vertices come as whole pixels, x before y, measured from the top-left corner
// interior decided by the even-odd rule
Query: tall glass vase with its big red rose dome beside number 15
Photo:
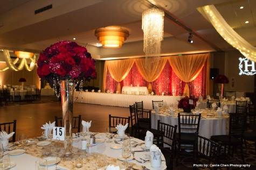
[[[57,96],[60,89],[65,128],[66,157],[72,154],[72,119],[74,87],[82,80],[95,79],[95,61],[85,47],[73,41],[60,41],[40,53],[37,61],[37,73],[40,78],[53,82]],[[49,132],[51,133],[51,132]]]

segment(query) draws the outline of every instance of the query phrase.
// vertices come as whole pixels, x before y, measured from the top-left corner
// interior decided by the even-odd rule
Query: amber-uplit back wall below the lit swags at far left
[[[0,62],[0,69],[6,67],[4,62]],[[35,67],[31,72],[28,72],[25,68],[19,72],[8,69],[5,72],[0,72],[0,84],[11,84],[11,85],[21,85],[19,79],[24,77],[26,82],[24,86],[35,85],[37,88],[40,88],[40,79],[37,75],[37,68]]]

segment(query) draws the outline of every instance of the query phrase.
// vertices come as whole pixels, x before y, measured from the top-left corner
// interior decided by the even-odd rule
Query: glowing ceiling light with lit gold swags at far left
[[[34,66],[36,65],[36,55],[34,55],[33,53],[23,52],[23,51],[15,51],[14,53],[17,55],[17,58],[14,61],[12,61],[9,51],[7,49],[3,50],[6,67],[3,69],[0,69],[0,72],[4,72],[8,69],[12,69],[18,72],[22,70],[24,67],[29,72],[31,72],[34,69]],[[19,65],[16,66],[19,59],[21,61]],[[30,60],[30,64],[27,63],[26,59]]]

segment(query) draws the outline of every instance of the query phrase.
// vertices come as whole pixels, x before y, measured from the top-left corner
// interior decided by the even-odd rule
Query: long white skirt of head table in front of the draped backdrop
[[[77,100],[76,100],[77,98]],[[152,101],[164,101],[167,105],[178,104],[181,96],[157,96],[157,95],[124,95],[98,92],[75,91],[74,102],[110,105],[116,107],[129,107],[135,102],[143,101],[144,109],[153,109]]]

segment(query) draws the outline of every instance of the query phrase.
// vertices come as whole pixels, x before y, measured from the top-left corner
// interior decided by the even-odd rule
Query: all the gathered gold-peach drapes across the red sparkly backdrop
[[[183,95],[189,96],[188,83],[195,80],[206,64],[206,95],[210,94],[210,53],[165,56],[156,62],[146,62],[145,58],[108,60],[105,61],[103,75],[103,91],[106,91],[107,71],[118,83],[117,91],[121,92],[120,82],[125,79],[135,63],[143,79],[149,82],[149,92],[152,91],[151,82],[161,74],[165,64],[169,61],[172,70],[179,79],[186,82]]]

